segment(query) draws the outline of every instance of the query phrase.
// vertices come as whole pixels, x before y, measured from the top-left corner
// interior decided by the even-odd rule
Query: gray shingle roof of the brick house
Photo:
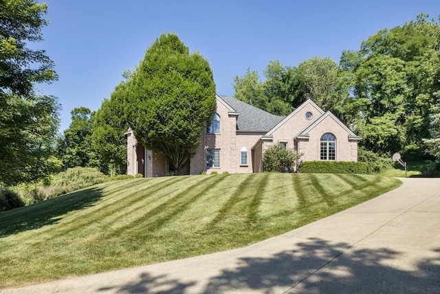
[[[276,116],[265,112],[231,96],[220,96],[220,98],[239,113],[236,121],[239,131],[269,132],[285,118],[285,116]]]

